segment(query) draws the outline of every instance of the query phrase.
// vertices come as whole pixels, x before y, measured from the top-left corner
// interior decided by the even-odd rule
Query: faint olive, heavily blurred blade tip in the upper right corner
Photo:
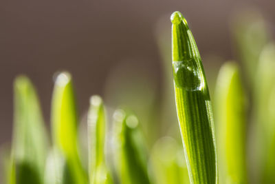
[[[243,62],[248,82],[253,85],[261,50],[270,38],[267,23],[259,11],[241,10],[232,20],[231,28],[236,52]]]

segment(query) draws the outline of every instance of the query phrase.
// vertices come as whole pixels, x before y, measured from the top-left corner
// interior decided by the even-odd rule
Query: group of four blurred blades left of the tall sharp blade
[[[52,148],[48,144],[39,99],[26,76],[14,82],[14,142],[7,183],[115,183],[105,158],[106,115],[100,96],[92,96],[87,118],[89,171],[81,162],[78,114],[72,76],[56,77],[52,96]],[[114,113],[115,175],[120,183],[150,183],[147,154],[137,118]],[[50,152],[48,150],[50,149]]]

